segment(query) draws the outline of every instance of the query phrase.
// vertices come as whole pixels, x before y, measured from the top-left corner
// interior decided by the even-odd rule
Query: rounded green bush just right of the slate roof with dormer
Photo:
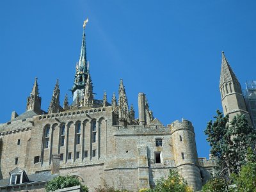
[[[88,192],[87,186],[84,186],[81,184],[81,182],[76,178],[72,176],[58,176],[51,181],[47,182],[45,185],[46,191],[55,191],[57,189],[63,189],[63,188],[70,188],[74,186],[81,186],[84,192]]]

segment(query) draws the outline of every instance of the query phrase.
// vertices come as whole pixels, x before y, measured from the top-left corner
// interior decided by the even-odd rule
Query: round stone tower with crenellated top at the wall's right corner
[[[198,191],[202,188],[196,150],[194,127],[188,120],[176,120],[170,126],[175,164],[189,186]]]

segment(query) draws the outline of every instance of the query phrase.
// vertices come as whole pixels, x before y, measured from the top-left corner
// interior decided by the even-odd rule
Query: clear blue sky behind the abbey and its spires
[[[221,109],[221,51],[241,86],[256,79],[256,1],[0,1],[0,122],[21,114],[38,77],[47,111],[56,79],[71,96],[83,20],[93,92],[111,102],[124,79],[138,117],[138,93],[164,125],[193,122],[208,157],[207,122]],[[69,98],[71,102],[72,98]],[[221,109],[222,111],[222,109]]]

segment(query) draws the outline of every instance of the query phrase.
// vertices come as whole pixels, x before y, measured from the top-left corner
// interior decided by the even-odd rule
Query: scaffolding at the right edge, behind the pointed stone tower
[[[244,100],[252,118],[253,127],[256,129],[256,81],[246,81]]]

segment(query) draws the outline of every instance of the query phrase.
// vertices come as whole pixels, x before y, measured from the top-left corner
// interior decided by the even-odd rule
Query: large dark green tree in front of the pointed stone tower
[[[239,173],[246,163],[246,149],[254,144],[256,133],[244,115],[234,116],[230,123],[228,115],[223,116],[219,110],[217,115],[213,123],[208,122],[205,134],[220,170],[227,168],[229,176],[232,172]]]

